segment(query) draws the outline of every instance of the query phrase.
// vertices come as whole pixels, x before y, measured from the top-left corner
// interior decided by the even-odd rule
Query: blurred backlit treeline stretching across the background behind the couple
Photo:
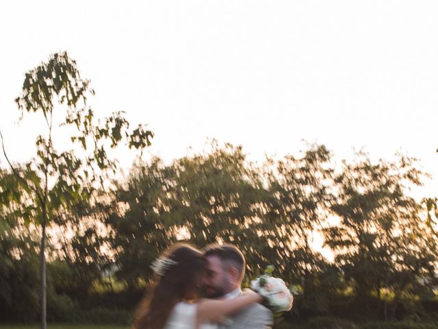
[[[409,194],[424,179],[402,154],[336,164],[322,145],[263,164],[215,142],[171,164],[137,162],[112,191],[53,207],[48,320],[129,321],[159,252],[176,241],[220,241],[244,251],[246,280],[273,264],[298,287],[285,321],[438,321],[436,222]],[[37,321],[40,312],[31,193],[0,171],[1,322]],[[321,254],[320,239],[333,257]]]

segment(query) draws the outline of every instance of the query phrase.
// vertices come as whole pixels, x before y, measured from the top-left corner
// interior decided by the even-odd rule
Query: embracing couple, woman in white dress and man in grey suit
[[[153,263],[155,284],[140,303],[133,328],[271,328],[272,313],[259,304],[261,295],[240,289],[245,266],[234,245],[203,251],[175,245]]]

